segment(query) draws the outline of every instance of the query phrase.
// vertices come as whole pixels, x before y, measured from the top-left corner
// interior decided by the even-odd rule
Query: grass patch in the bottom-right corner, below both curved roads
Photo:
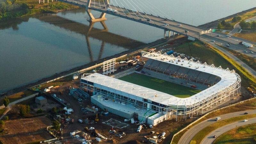
[[[255,144],[256,124],[237,127],[220,135],[214,144]]]

